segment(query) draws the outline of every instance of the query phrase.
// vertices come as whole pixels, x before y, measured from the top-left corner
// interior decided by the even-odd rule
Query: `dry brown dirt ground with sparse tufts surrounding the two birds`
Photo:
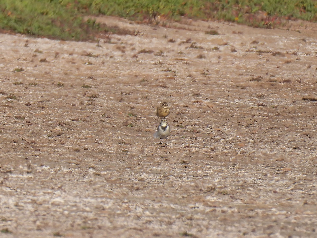
[[[98,21],[0,35],[1,237],[317,236],[313,23]]]

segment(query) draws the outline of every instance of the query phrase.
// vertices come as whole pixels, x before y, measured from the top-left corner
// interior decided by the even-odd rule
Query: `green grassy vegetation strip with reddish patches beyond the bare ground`
[[[263,26],[250,17],[259,11],[267,16],[317,21],[314,0],[0,0],[0,28],[22,34],[64,40],[94,39],[112,31],[84,16],[110,15],[142,21],[156,16],[179,20],[217,19]]]

